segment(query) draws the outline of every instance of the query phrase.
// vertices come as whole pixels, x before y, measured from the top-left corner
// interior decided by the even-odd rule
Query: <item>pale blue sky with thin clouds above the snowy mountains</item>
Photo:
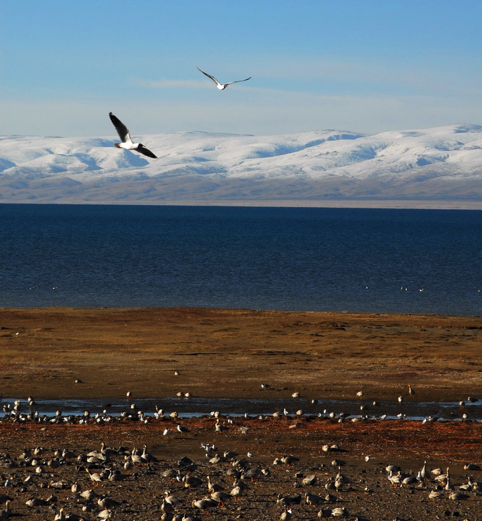
[[[482,124],[481,27],[480,0],[3,0],[0,135]]]

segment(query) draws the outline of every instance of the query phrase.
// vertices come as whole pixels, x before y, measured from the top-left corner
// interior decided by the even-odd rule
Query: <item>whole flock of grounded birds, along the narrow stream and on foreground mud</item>
[[[261,384],[261,389],[268,389],[269,384]],[[414,395],[415,391],[410,385],[408,394]],[[362,398],[365,393],[357,391],[357,398]],[[185,393],[181,393],[185,396]],[[299,397],[299,393],[294,393]],[[15,400],[13,406],[4,404],[5,415],[2,422],[26,423],[37,422],[40,424],[91,424],[108,425],[113,422],[137,422],[150,424],[163,422],[165,429],[159,431],[160,436],[171,438],[167,446],[175,444],[179,439],[185,439],[185,433],[190,433],[189,423],[181,422],[181,415],[177,412],[165,413],[163,409],[156,407],[152,415],[137,410],[132,402],[132,392],[126,394],[129,411],[112,417],[104,411],[101,415],[92,415],[89,411],[83,415],[63,415],[57,411],[55,415],[40,415],[36,410],[36,403],[32,397],[27,404],[30,412],[23,411],[25,404]],[[469,402],[476,402],[474,397],[468,397]],[[399,400],[401,402],[401,400]],[[461,402],[461,406],[465,402]],[[289,428],[299,426],[296,420],[303,416],[303,411],[283,413],[278,411],[271,415],[274,421],[294,420]],[[255,415],[254,418],[257,416]],[[219,411],[212,411],[205,415],[203,421],[212,426],[213,436],[217,440],[223,440],[223,436],[217,433],[234,435],[246,435],[250,431],[248,422],[251,419],[246,413],[244,417],[232,417],[221,415]],[[270,417],[260,415],[260,420],[268,420]],[[332,419],[339,422],[346,420],[345,415],[323,414],[323,419]],[[315,420],[313,417],[312,420]],[[372,418],[373,420],[383,419]],[[352,418],[352,421],[360,420],[360,417]],[[194,431],[190,437],[197,438]],[[228,440],[230,438],[224,438]],[[232,438],[231,438],[232,439]],[[321,445],[321,450],[330,459],[332,454],[338,456],[342,453],[336,444]],[[248,451],[245,456],[232,450],[219,450],[217,443],[201,443],[199,459],[193,460],[184,456],[175,465],[172,462],[159,460],[148,451],[148,446],[143,444],[128,447],[108,447],[101,443],[100,449],[93,451],[75,451],[65,447],[46,449],[42,446],[26,448],[17,456],[0,453],[0,487],[6,493],[0,492],[0,521],[13,518],[21,513],[18,505],[23,502],[30,512],[45,513],[54,521],[80,521],[92,519],[118,519],[118,520],[146,520],[154,519],[151,516],[152,509],[156,510],[157,517],[162,521],[199,521],[204,515],[216,512],[225,518],[226,513],[246,511],[259,507],[261,501],[269,496],[259,495],[257,482],[270,484],[272,489],[278,492],[276,496],[276,509],[279,520],[288,521],[297,518],[305,518],[306,508],[312,511],[317,509],[317,518],[343,517],[367,520],[362,515],[354,514],[356,509],[350,501],[346,500],[349,492],[366,494],[372,504],[376,503],[376,488],[381,486],[379,482],[370,483],[367,479],[367,469],[353,471],[348,475],[347,463],[338,457],[334,457],[330,466],[321,464],[314,469],[304,465],[301,458],[284,454],[277,455],[272,464],[266,464],[264,455],[262,460],[257,455]],[[270,451],[276,451],[271,447]],[[372,466],[368,456],[365,464]],[[166,468],[167,467],[167,468]],[[323,469],[322,475],[316,473]],[[332,471],[330,471],[332,469]],[[303,473],[303,471],[306,472]],[[327,471],[328,470],[328,471]],[[410,493],[423,493],[425,500],[451,500],[462,502],[473,500],[479,504],[482,495],[482,483],[478,482],[473,473],[482,471],[479,464],[468,463],[464,470],[468,473],[465,480],[452,476],[450,466],[445,470],[428,469],[425,461],[421,469],[416,472],[405,472],[396,464],[387,465],[380,471],[386,472],[386,489],[408,490]],[[313,472],[314,471],[314,472]],[[288,478],[294,479],[292,486],[300,489],[297,493],[285,493],[279,491],[287,483]],[[143,480],[155,480],[158,487],[165,492],[159,497],[148,500],[150,513],[146,514],[144,507],[137,503],[129,502],[129,494],[134,491]],[[382,485],[383,486],[383,485]],[[145,488],[145,487],[143,487]],[[0,488],[1,491],[1,488]],[[122,499],[123,498],[123,499]],[[262,499],[264,498],[264,499]],[[12,503],[14,507],[12,507]],[[470,501],[469,501],[470,503]],[[347,506],[350,504],[350,507]],[[303,507],[304,505],[304,507]],[[147,508],[147,507],[146,507]],[[350,511],[349,511],[350,508]],[[136,510],[137,509],[137,510]],[[139,510],[140,509],[140,510]],[[365,513],[367,509],[364,509]],[[16,513],[17,511],[17,513]],[[127,515],[126,513],[132,513]],[[245,517],[245,516],[243,516]],[[43,519],[46,519],[44,516]],[[248,517],[248,519],[252,519]],[[400,519],[400,518],[398,518]],[[472,520],[471,520],[472,521]]]

